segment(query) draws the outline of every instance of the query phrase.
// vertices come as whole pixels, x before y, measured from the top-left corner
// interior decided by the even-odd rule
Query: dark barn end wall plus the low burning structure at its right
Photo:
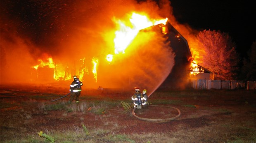
[[[169,22],[152,27],[166,37],[166,43],[175,53],[175,65],[160,88],[190,88],[192,80],[211,78],[211,71],[192,61],[187,40]]]

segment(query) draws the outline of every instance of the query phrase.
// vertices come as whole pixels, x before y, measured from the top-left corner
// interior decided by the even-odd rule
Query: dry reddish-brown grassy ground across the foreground
[[[33,95],[29,96],[32,99],[19,101],[2,98],[0,140],[43,143],[45,138],[37,134],[42,130],[56,143],[256,142],[254,92],[157,91],[149,98],[150,102],[171,104],[181,111],[180,118],[167,123],[137,120],[127,114],[119,100],[90,100],[90,97],[82,97],[79,104],[48,103],[38,101],[39,97]],[[158,115],[164,117],[166,113],[172,112],[160,111]]]

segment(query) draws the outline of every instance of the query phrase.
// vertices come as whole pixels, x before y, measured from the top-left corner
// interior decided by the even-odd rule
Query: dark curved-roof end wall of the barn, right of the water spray
[[[175,65],[161,87],[183,88],[189,85],[192,55],[187,40],[170,24],[158,25],[175,53]]]

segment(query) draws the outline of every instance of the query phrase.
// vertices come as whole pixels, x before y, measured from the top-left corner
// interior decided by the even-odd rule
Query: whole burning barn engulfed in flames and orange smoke
[[[10,81],[8,74],[12,81],[38,83],[77,75],[87,88],[137,86],[150,94],[159,86],[185,87],[192,55],[187,40],[170,24],[170,2],[111,2],[7,5],[2,13],[9,23],[1,24],[1,83]]]

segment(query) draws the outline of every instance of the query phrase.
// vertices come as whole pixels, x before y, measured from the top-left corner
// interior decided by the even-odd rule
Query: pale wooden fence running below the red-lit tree
[[[256,81],[223,81],[211,79],[198,79],[192,81],[194,89],[239,89],[246,88],[247,90],[256,89]]]

